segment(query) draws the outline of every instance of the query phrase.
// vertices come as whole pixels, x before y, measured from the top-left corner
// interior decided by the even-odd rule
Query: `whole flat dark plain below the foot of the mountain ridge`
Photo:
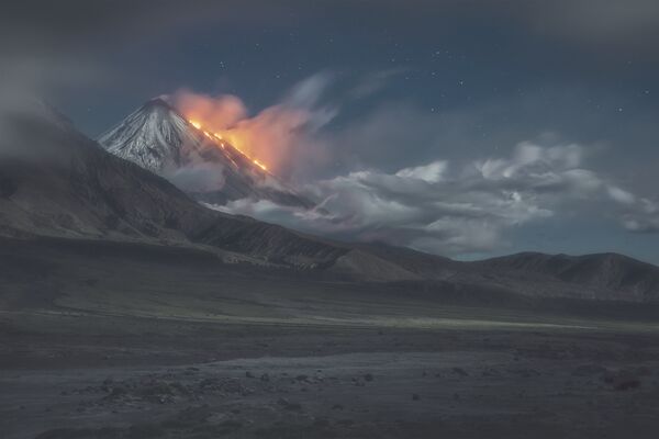
[[[3,439],[659,428],[648,304],[312,279],[188,250],[3,249]]]

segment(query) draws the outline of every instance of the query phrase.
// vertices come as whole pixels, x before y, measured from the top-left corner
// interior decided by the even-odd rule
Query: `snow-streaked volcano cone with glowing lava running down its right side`
[[[109,153],[165,177],[200,202],[226,204],[252,199],[314,206],[258,161],[186,120],[161,98],[146,102],[98,142]]]

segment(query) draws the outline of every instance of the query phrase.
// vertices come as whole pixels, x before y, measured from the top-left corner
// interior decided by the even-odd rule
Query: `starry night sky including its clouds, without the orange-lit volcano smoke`
[[[91,137],[181,89],[238,97],[254,117],[302,106],[281,177],[333,216],[232,212],[460,259],[659,263],[654,0],[12,3],[1,87]]]

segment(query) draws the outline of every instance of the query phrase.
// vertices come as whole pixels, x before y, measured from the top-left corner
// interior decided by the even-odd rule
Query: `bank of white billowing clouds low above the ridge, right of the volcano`
[[[447,256],[506,246],[506,232],[581,211],[618,218],[633,232],[659,230],[659,203],[585,169],[587,148],[518,144],[510,157],[437,160],[392,173],[361,170],[303,190],[312,211],[239,200],[217,207],[308,233],[380,240]]]

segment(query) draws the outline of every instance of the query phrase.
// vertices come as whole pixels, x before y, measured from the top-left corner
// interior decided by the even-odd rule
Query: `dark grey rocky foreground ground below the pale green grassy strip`
[[[652,333],[168,320],[169,335],[130,335],[145,323],[124,318],[123,335],[103,336],[85,335],[99,323],[79,318],[77,336],[3,335],[3,438],[650,438],[659,428]]]

